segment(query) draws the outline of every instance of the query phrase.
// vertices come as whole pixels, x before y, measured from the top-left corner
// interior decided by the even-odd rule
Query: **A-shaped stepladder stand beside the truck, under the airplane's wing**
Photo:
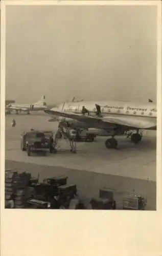
[[[65,117],[62,117],[61,121],[58,124],[58,129],[55,134],[54,139],[54,152],[57,153],[58,143],[61,139],[65,139],[67,143],[70,145],[70,152],[76,153],[76,138],[75,136],[72,138],[70,129],[67,125],[67,122],[65,120]]]

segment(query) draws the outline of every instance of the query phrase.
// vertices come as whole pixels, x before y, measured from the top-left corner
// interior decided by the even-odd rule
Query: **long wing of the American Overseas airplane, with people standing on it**
[[[121,127],[125,129],[156,129],[156,119],[152,118],[138,118],[134,116],[85,116],[82,114],[65,113],[53,110],[44,110],[45,113],[51,116],[62,116],[65,118],[71,118],[79,122],[86,122],[91,128],[107,129],[110,127]]]

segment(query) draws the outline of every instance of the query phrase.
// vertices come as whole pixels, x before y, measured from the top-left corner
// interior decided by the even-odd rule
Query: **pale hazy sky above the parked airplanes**
[[[6,98],[156,100],[155,6],[6,9]]]

